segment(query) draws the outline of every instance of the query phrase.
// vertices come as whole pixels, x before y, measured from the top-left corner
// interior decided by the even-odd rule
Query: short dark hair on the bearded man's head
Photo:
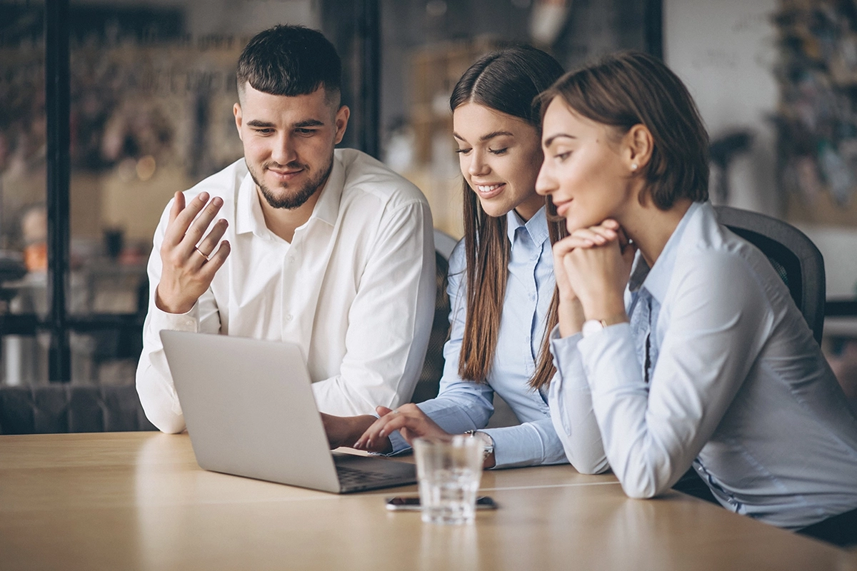
[[[342,62],[327,38],[303,26],[274,26],[257,33],[238,58],[238,95],[249,82],[257,91],[295,97],[325,88],[339,102]]]

